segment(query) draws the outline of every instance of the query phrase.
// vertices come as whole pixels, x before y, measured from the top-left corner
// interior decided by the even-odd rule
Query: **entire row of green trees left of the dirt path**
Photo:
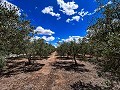
[[[10,54],[25,55],[29,63],[33,56],[48,56],[54,47],[44,40],[33,40],[34,26],[25,18],[18,15],[18,8],[0,5],[0,68]]]

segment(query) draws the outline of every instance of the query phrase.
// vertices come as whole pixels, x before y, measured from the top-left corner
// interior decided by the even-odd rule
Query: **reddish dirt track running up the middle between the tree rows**
[[[51,90],[52,86],[54,85],[56,76],[54,75],[55,70],[52,69],[51,63],[56,61],[55,55],[56,52],[52,53],[50,58],[48,58],[48,60],[44,62],[45,66],[43,66],[41,70],[36,72],[37,74],[42,73],[46,76],[46,80],[43,81],[44,83],[41,87],[41,90]]]

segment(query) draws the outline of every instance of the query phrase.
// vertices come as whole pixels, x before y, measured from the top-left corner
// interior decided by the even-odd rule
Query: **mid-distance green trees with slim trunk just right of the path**
[[[59,43],[59,46],[57,47],[57,53],[60,56],[72,56],[75,64],[77,64],[76,57],[81,56],[83,59],[85,59],[85,54],[88,53],[88,49],[87,39],[83,38],[79,39],[78,42],[73,40],[70,42]]]

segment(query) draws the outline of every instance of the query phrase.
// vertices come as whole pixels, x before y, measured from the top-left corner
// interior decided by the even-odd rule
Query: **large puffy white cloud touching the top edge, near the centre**
[[[74,1],[65,3],[63,0],[57,0],[58,5],[60,5],[60,8],[64,14],[66,15],[74,15],[77,13],[75,10],[78,9],[78,4],[75,4]]]

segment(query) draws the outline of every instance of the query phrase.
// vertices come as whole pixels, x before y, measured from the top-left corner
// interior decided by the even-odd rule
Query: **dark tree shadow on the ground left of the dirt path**
[[[7,62],[7,66],[0,73],[0,77],[3,77],[3,76],[10,77],[12,75],[17,75],[20,73],[28,73],[28,72],[38,71],[43,66],[44,66],[44,64],[40,64],[37,62],[29,65],[27,61],[16,62],[15,60],[11,60],[11,61]]]

